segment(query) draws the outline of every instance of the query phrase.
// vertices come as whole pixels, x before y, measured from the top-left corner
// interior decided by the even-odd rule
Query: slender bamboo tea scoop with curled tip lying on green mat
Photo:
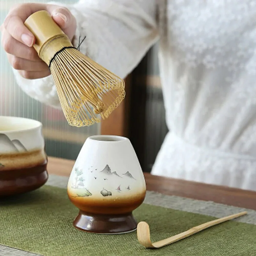
[[[235,219],[237,217],[240,217],[240,216],[246,215],[246,214],[247,214],[247,212],[243,211],[243,212],[229,215],[229,216],[217,219],[217,220],[212,220],[212,221],[203,223],[199,226],[193,227],[193,228],[191,228],[185,232],[182,232],[180,234],[177,234],[175,236],[172,236],[172,237],[169,237],[169,238],[166,238],[166,239],[160,240],[158,242],[154,242],[154,243],[152,243],[150,240],[150,229],[149,229],[148,224],[144,221],[141,221],[137,225],[137,238],[138,238],[138,241],[140,242],[140,244],[142,244],[146,248],[160,248],[160,247],[166,246],[167,244],[171,244],[171,243],[177,242],[181,239],[184,239],[186,237],[189,237],[195,233],[198,233],[204,229],[207,229],[207,228],[217,225],[219,223],[225,222],[227,220]]]

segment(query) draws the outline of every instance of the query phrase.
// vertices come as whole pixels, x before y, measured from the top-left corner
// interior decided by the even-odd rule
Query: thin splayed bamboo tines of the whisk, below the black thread
[[[68,50],[61,52],[50,68],[63,113],[73,126],[98,123],[124,99],[124,81],[76,49]]]

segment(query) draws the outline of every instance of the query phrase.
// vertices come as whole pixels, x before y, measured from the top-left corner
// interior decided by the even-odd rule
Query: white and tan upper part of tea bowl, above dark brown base
[[[0,165],[17,169],[45,161],[42,124],[36,120],[0,116]]]

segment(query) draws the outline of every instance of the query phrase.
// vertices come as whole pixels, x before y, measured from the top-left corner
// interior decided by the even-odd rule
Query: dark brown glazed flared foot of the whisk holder
[[[80,210],[73,221],[73,226],[79,230],[97,234],[123,234],[135,231],[137,221],[132,212],[122,215],[100,215]]]

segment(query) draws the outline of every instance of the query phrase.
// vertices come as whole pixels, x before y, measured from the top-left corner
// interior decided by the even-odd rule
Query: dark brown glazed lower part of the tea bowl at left
[[[26,193],[48,180],[47,161],[30,168],[0,170],[0,197]]]

